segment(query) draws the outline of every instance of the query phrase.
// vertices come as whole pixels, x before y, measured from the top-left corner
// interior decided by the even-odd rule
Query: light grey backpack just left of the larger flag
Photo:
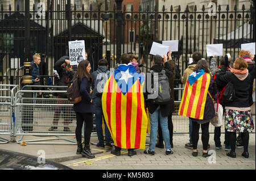
[[[101,96],[102,92],[104,90],[104,86],[109,79],[110,71],[108,70],[108,71],[106,71],[106,73],[99,72],[98,70],[96,70],[96,71],[97,71],[97,78],[96,78],[96,82],[95,82],[93,91],[95,91],[95,94],[97,96]],[[108,75],[108,77],[106,77],[105,75]],[[100,87],[98,87],[98,83],[101,83]]]

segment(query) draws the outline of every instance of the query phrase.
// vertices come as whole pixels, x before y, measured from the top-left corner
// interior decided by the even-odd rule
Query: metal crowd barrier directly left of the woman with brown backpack
[[[24,86],[23,90],[16,92],[14,99],[14,141],[19,144],[22,142],[23,136],[53,136],[54,138],[26,140],[25,142],[29,144],[77,144],[76,140],[67,137],[75,136],[76,113],[73,111],[73,104],[69,104],[67,99],[33,98],[32,96],[34,92],[56,94],[66,91],[24,90],[35,87],[55,88],[67,86]],[[52,127],[56,129],[50,129]],[[18,139],[18,136],[21,137]],[[68,142],[51,142],[53,140],[65,140]]]

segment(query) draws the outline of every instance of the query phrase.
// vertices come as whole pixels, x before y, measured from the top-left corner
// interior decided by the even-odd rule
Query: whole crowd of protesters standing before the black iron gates
[[[57,85],[65,86],[73,78],[77,78],[80,86],[82,100],[74,104],[73,110],[76,112],[76,140],[77,154],[82,154],[87,158],[95,156],[90,151],[90,133],[93,129],[93,114],[96,117],[96,132],[98,136],[98,148],[112,149],[112,139],[114,140],[114,149],[112,154],[121,155],[122,148],[127,148],[129,156],[137,154],[135,149],[144,148],[143,138],[141,142],[135,143],[131,139],[131,127],[137,133],[138,129],[140,137],[146,137],[146,129],[144,129],[144,115],[148,111],[150,119],[150,146],[144,149],[144,154],[155,154],[155,147],[165,148],[166,154],[173,154],[173,124],[172,113],[174,112],[175,99],[175,73],[176,65],[169,51],[164,57],[156,55],[153,58],[153,65],[147,75],[141,74],[139,58],[134,54],[123,53],[120,64],[115,66],[116,71],[110,73],[108,61],[101,59],[98,61],[96,71],[91,71],[90,62],[88,60],[80,60],[79,65],[72,70],[68,56],[61,57],[56,61],[55,69],[59,75]],[[39,82],[39,67],[40,58],[34,56],[32,61],[32,81]],[[227,56],[221,58],[220,66],[217,67],[217,58],[210,57],[209,62],[202,60],[200,52],[192,54],[192,64],[184,70],[181,77],[181,83],[184,84],[183,96],[179,107],[179,115],[187,116],[189,122],[189,142],[185,144],[186,148],[192,149],[192,155],[197,157],[199,150],[197,144],[199,141],[199,129],[201,127],[201,141],[203,143],[203,157],[209,157],[209,124],[215,117],[214,102],[217,98],[224,108],[225,117],[225,150],[229,151],[226,155],[236,158],[236,146],[243,146],[242,156],[249,158],[249,131],[254,129],[253,117],[251,116],[250,107],[253,104],[253,81],[255,79],[255,61],[254,55],[249,51],[241,50],[237,58],[234,57],[234,62]],[[118,74],[119,73],[119,74]],[[119,77],[118,77],[119,76]],[[129,81],[132,85],[129,85]],[[138,81],[137,81],[138,79]],[[111,83],[110,81],[114,81]],[[103,82],[103,83],[102,83]],[[120,83],[121,82],[121,83]],[[236,91],[236,98],[232,102],[224,102],[223,95],[226,85],[231,82]],[[136,87],[135,84],[138,83]],[[115,85],[116,84],[116,85]],[[129,91],[137,89],[139,96],[138,104],[134,104],[130,100]],[[160,85],[160,88],[159,88]],[[162,87],[161,87],[162,85]],[[119,86],[119,89],[117,88]],[[142,87],[146,91],[142,92]],[[114,88],[115,90],[114,90]],[[126,88],[126,89],[125,89]],[[109,91],[114,90],[116,98],[108,100]],[[64,89],[62,89],[64,90]],[[104,90],[108,90],[104,93]],[[118,94],[121,90],[122,94]],[[125,90],[125,91],[123,91]],[[156,92],[156,97],[152,95]],[[141,94],[140,94],[141,93]],[[36,95],[34,95],[36,96]],[[126,96],[126,97],[124,97]],[[65,99],[65,94],[58,94],[57,98]],[[113,98],[110,96],[110,98]],[[125,99],[126,102],[122,103]],[[107,101],[107,103],[105,103]],[[142,103],[141,103],[142,102]],[[59,103],[63,103],[60,102]],[[108,107],[119,105],[115,111],[108,111]],[[130,106],[130,107],[129,107]],[[126,110],[125,116],[122,115],[123,109]],[[129,110],[130,109],[130,110]],[[131,110],[136,110],[135,117],[129,115]],[[60,111],[68,112],[68,108],[57,108],[53,120],[53,127],[49,131],[57,129]],[[119,111],[119,112],[118,112]],[[141,114],[138,112],[141,111]],[[110,115],[114,113],[115,115]],[[110,118],[111,116],[111,118]],[[133,119],[137,120],[135,125],[131,124]],[[138,125],[139,119],[141,119]],[[116,130],[114,130],[113,122]],[[125,122],[125,126],[121,122]],[[85,122],[84,133],[84,148],[82,148],[82,125]],[[119,123],[120,122],[120,123]],[[69,132],[68,124],[71,123],[70,117],[64,117],[64,131]],[[102,129],[102,123],[105,130]],[[120,124],[120,125],[119,125]],[[126,133],[118,131],[118,126],[126,129]],[[128,128],[129,129],[128,129]],[[104,139],[105,132],[105,139]],[[144,134],[145,132],[145,134]],[[238,132],[238,137],[236,136]],[[123,136],[125,135],[125,136]],[[137,136],[137,134],[136,134]],[[136,137],[135,136],[135,137]],[[221,149],[221,127],[214,129],[215,148]],[[119,142],[120,141],[120,142]],[[123,144],[123,142],[125,144]],[[137,140],[138,141],[138,140]]]

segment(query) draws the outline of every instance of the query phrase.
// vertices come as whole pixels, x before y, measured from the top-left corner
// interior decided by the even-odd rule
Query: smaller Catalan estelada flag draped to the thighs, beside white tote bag
[[[204,119],[204,107],[210,85],[210,74],[204,70],[189,75],[180,102],[179,115]]]

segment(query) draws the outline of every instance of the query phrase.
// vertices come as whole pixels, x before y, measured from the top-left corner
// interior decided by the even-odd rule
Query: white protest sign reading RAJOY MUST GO
[[[79,60],[79,57],[81,56],[85,60],[84,40],[68,41],[68,49],[70,65],[78,65],[77,60]]]

